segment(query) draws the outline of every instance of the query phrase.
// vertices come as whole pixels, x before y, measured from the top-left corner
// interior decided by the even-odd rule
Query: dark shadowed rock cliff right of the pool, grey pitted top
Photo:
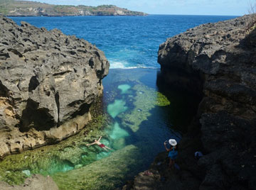
[[[159,47],[166,83],[203,97],[198,121],[188,128],[178,158],[187,171],[183,172],[185,181],[201,180],[196,189],[256,186],[256,29],[249,27],[252,18],[204,24]],[[204,156],[197,162],[193,152],[198,149]]]

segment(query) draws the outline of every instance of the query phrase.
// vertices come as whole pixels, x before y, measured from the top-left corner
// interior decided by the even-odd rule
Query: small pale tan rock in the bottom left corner
[[[1,190],[58,190],[58,186],[51,177],[43,177],[40,174],[35,174],[26,179],[25,183],[21,186],[11,186],[4,181],[0,181],[0,186]]]

